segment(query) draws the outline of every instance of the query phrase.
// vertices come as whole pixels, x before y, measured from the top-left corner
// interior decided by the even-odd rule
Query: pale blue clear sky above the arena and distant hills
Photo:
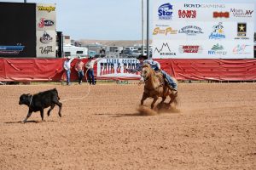
[[[147,0],[143,1],[146,6]],[[24,0],[0,0],[0,2],[23,3]],[[69,35],[75,40],[139,40],[142,37],[142,0],[26,0],[26,2],[56,3],[57,31],[62,31],[64,35]],[[154,0],[149,2],[152,4]],[[255,3],[256,7],[256,0],[194,0],[193,2]],[[256,17],[254,18],[256,24]]]

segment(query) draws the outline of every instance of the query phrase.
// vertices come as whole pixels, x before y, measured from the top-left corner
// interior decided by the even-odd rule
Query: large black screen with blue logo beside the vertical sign
[[[0,57],[36,56],[35,3],[0,3]]]

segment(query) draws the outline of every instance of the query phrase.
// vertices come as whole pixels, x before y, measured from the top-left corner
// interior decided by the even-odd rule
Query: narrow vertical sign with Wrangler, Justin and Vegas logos
[[[56,11],[55,4],[37,3],[37,57],[55,58]]]

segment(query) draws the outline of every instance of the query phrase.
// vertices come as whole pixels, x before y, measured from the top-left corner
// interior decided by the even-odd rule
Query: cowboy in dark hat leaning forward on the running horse
[[[135,69],[126,69],[129,73],[134,73],[137,71],[143,70],[143,65],[148,64],[151,66],[151,68],[154,71],[161,71],[164,79],[167,82],[167,87],[170,88],[173,91],[177,92],[177,83],[172,79],[171,76],[169,76],[166,71],[160,70],[160,63],[157,61],[154,61],[153,59],[148,59],[147,55],[140,54],[137,59],[139,59],[139,64],[136,66]]]

